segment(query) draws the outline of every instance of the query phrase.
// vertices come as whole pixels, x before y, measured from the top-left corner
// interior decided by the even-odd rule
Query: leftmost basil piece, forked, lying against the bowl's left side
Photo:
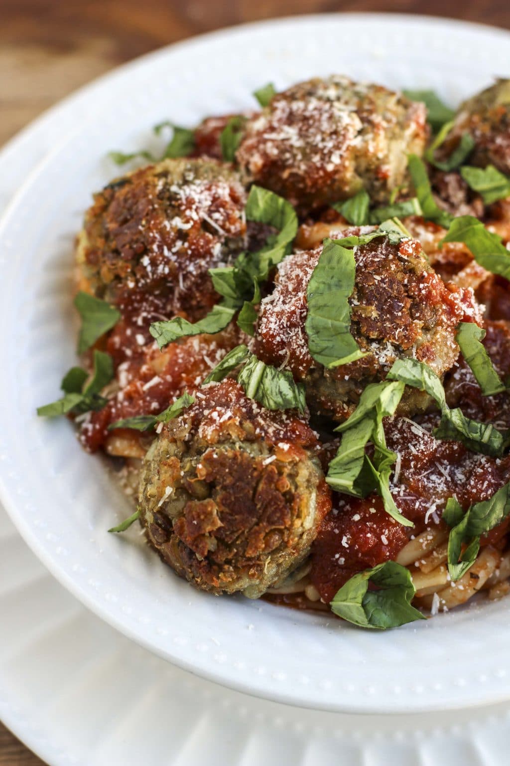
[[[73,414],[83,414],[89,410],[100,410],[106,404],[106,399],[99,396],[113,378],[113,362],[109,354],[102,351],[94,351],[93,375],[89,380],[89,373],[80,367],[73,367],[64,375],[60,388],[64,396],[51,404],[44,404],[37,408],[37,414],[41,417],[57,417]],[[86,381],[89,383],[86,384]]]

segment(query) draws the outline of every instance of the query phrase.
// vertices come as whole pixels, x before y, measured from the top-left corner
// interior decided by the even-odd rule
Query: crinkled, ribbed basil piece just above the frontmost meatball
[[[260,402],[267,410],[294,410],[304,413],[304,385],[296,383],[291,372],[266,365],[250,354],[237,381],[250,399]]]

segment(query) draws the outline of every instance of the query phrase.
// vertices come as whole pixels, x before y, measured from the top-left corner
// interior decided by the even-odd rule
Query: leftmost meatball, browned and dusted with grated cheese
[[[128,173],[86,213],[82,286],[141,328],[161,315],[200,319],[218,299],[208,269],[245,246],[245,201],[236,173],[214,160],[167,159]]]

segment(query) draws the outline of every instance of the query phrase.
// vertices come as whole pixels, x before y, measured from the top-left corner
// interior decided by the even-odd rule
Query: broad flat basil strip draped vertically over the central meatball
[[[345,365],[366,356],[350,332],[349,297],[355,278],[353,251],[339,241],[326,239],[307,285],[305,322],[310,354],[325,367]]]

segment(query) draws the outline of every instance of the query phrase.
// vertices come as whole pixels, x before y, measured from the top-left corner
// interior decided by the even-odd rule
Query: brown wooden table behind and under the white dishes
[[[427,12],[510,28],[508,0],[0,0],[0,145],[123,61],[192,34],[319,11]],[[41,763],[0,724],[0,766]]]

